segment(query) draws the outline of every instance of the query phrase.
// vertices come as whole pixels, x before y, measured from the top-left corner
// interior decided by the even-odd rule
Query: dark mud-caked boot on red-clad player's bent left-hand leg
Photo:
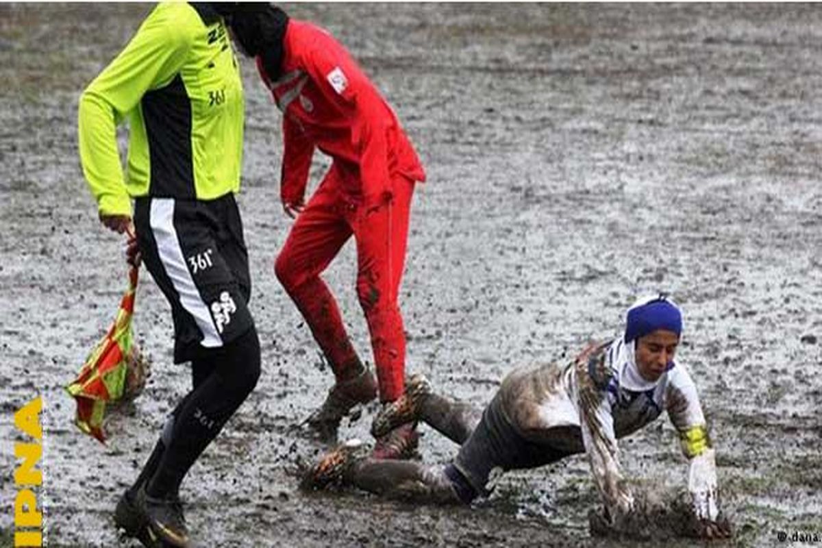
[[[376,380],[371,371],[363,368],[357,376],[336,383],[328,391],[322,407],[307,419],[307,425],[321,440],[333,441],[337,438],[339,421],[360,403],[368,403],[376,398]]]

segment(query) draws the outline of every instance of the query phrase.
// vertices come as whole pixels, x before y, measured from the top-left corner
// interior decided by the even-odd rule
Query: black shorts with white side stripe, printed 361
[[[252,328],[248,251],[233,194],[137,198],[134,224],[143,263],[171,304],[175,363]]]

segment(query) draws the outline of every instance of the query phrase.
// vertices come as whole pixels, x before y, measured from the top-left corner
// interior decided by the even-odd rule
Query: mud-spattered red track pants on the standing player
[[[405,382],[405,332],[397,296],[414,182],[395,176],[392,199],[367,207],[343,191],[343,177],[332,165],[291,228],[275,262],[275,273],[311,328],[337,380],[346,380],[359,372],[361,361],[320,274],[353,234],[357,295],[371,334],[380,399],[390,402],[403,393]]]

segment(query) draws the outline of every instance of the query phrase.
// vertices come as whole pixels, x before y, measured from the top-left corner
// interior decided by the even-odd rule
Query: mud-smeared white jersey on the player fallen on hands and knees
[[[609,507],[627,509],[617,438],[639,430],[667,411],[692,465],[710,447],[694,381],[679,364],[660,378],[641,380],[633,344],[622,339],[591,345],[566,366],[550,364],[513,371],[503,381],[503,409],[528,440],[572,453],[586,453],[598,489]],[[630,389],[629,389],[630,387]]]

